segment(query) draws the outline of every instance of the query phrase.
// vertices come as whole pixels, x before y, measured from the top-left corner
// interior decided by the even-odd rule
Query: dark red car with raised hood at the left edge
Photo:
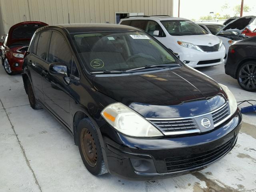
[[[38,21],[21,22],[12,26],[7,35],[1,37],[0,56],[4,70],[13,75],[22,71],[24,53],[34,32],[48,24]]]

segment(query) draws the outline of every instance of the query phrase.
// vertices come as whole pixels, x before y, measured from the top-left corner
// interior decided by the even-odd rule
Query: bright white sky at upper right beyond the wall
[[[222,11],[221,7],[225,3],[230,8]],[[234,16],[232,7],[238,4],[241,4],[241,0],[180,0],[180,17],[199,20],[201,16],[207,16],[210,12]],[[243,16],[256,15],[256,0],[244,0],[244,5],[248,5],[251,10],[250,12],[244,12]],[[173,16],[178,16],[178,0],[174,0]]]

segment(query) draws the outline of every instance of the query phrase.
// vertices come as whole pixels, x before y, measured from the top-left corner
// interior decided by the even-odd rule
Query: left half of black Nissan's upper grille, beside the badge
[[[157,126],[162,132],[178,132],[198,130],[197,124],[193,119],[181,120],[150,120],[152,124]]]

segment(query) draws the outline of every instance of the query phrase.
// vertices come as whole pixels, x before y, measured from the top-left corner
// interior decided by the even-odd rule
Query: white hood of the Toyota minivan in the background
[[[184,36],[173,36],[177,41],[183,41],[187,43],[192,43],[194,45],[203,45],[203,46],[209,46],[209,43],[211,45],[216,45],[220,43],[220,40],[218,37],[212,35],[212,34],[206,34],[206,35],[184,35]]]

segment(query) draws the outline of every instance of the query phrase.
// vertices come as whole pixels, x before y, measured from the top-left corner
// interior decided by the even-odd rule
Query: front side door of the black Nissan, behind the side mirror
[[[49,65],[56,62],[65,64],[71,73],[72,53],[68,42],[60,32],[53,30],[47,62],[43,66],[44,102],[66,126],[71,127],[70,86],[64,81],[63,77],[49,73]]]

